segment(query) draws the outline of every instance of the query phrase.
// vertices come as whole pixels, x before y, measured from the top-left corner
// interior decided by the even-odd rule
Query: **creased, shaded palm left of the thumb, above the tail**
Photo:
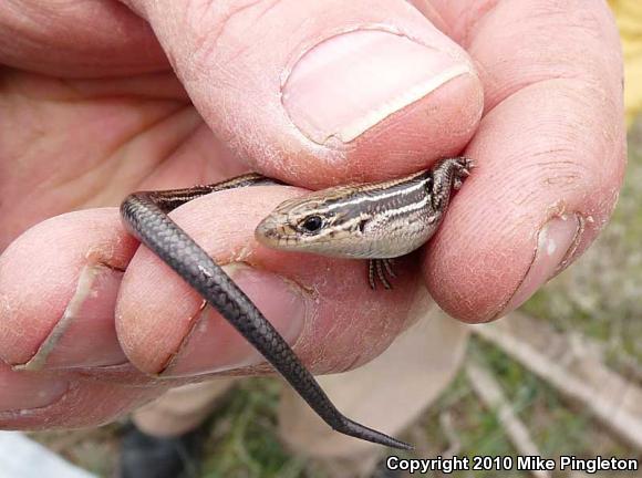
[[[170,73],[124,82],[9,72],[0,104],[11,112],[0,117],[0,250],[45,218],[210,176],[215,142]]]

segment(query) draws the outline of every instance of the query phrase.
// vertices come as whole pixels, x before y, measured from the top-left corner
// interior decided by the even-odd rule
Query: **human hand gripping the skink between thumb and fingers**
[[[237,264],[232,278],[319,373],[381,353],[422,283],[453,316],[486,321],[590,245],[624,164],[605,4],[414,3],[131,0],[152,28],[114,1],[0,7],[0,247],[35,225],[0,257],[3,428],[93,425],[193,376],[268,370],[137,251],[113,207],[135,189],[246,169],[320,188],[468,145],[478,167],[421,271],[404,262],[392,292],[373,293],[361,262],[255,242],[291,188],[211,195],[173,216]],[[42,370],[11,368],[24,364]]]

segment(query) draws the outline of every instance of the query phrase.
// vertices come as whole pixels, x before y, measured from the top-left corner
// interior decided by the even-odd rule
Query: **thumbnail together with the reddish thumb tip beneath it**
[[[477,74],[454,43],[429,38],[425,44],[385,29],[355,30],[298,61],[282,103],[308,139],[342,153],[328,167],[365,180],[398,175],[455,154],[470,138],[483,111]],[[375,150],[377,168],[365,167]]]

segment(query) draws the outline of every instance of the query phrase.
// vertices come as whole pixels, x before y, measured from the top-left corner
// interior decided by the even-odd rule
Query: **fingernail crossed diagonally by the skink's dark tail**
[[[283,278],[235,263],[225,271],[292,345],[312,310],[309,295]],[[162,377],[191,376],[256,365],[265,358],[214,309],[206,308]]]

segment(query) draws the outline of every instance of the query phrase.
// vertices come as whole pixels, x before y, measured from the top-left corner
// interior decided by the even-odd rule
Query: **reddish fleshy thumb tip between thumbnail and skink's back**
[[[441,158],[456,156],[475,134],[483,110],[479,79],[470,71],[460,74],[356,137],[340,162],[314,164],[320,174],[312,186],[335,183],[336,169],[344,176],[343,181],[375,181],[426,169]]]

